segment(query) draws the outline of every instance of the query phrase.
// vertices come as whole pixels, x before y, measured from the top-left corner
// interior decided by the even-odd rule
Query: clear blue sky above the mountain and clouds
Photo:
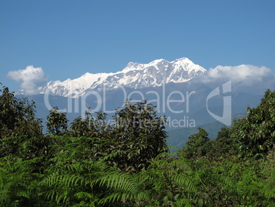
[[[187,57],[205,69],[275,69],[275,1],[0,0],[0,82],[41,67],[47,80]]]

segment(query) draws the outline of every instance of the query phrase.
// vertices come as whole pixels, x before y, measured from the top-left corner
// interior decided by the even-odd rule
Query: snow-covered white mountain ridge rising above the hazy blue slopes
[[[129,62],[125,69],[117,73],[85,73],[75,80],[51,81],[38,88],[40,94],[49,93],[63,97],[79,97],[89,90],[113,90],[118,87],[145,88],[161,86],[170,82],[182,83],[203,75],[206,70],[194,64],[188,58],[180,58],[169,62],[154,60],[148,64]],[[24,94],[21,90],[19,94]]]

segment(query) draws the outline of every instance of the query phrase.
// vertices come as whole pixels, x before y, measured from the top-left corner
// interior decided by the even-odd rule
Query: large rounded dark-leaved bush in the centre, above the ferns
[[[122,171],[140,171],[162,152],[166,145],[166,121],[157,116],[157,110],[146,101],[131,104],[116,111],[115,128],[112,133],[116,150],[125,151],[118,159]]]

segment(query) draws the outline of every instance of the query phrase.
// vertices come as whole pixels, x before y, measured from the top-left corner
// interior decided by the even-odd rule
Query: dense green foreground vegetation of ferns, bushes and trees
[[[78,117],[0,95],[0,206],[275,206],[275,92],[215,140],[199,128],[179,154],[142,101]]]

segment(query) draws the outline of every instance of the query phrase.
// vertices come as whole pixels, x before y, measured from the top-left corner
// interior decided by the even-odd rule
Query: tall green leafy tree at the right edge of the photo
[[[275,146],[275,91],[267,90],[259,106],[248,107],[248,116],[236,121],[233,128],[242,158],[266,156]]]

